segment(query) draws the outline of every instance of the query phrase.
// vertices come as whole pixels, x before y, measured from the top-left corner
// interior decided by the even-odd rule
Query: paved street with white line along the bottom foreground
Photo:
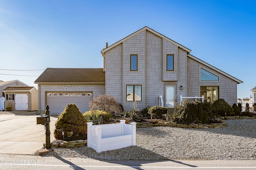
[[[0,154],[1,170],[254,170],[255,160],[92,160]]]

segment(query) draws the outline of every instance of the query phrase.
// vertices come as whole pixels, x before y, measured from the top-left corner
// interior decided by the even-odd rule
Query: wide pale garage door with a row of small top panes
[[[50,114],[62,113],[68,104],[76,104],[78,109],[85,113],[89,111],[89,102],[92,92],[46,92],[46,105]]]

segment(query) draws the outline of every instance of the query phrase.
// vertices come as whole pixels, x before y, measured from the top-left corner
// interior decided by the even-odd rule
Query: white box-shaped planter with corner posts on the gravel
[[[87,123],[87,147],[100,153],[106,150],[120,149],[136,145],[136,123],[92,125]]]

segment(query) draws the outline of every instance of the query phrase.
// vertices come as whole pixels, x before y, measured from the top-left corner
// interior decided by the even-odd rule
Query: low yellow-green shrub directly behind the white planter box
[[[107,123],[112,115],[107,111],[102,110],[90,110],[86,111],[83,116],[91,121],[94,125],[100,125],[103,123]]]

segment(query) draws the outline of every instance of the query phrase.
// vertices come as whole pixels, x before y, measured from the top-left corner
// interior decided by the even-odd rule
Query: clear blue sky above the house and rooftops
[[[255,0],[0,0],[0,80],[37,86],[47,67],[102,68],[106,42],[148,26],[242,80],[238,97],[250,97],[255,9]]]

